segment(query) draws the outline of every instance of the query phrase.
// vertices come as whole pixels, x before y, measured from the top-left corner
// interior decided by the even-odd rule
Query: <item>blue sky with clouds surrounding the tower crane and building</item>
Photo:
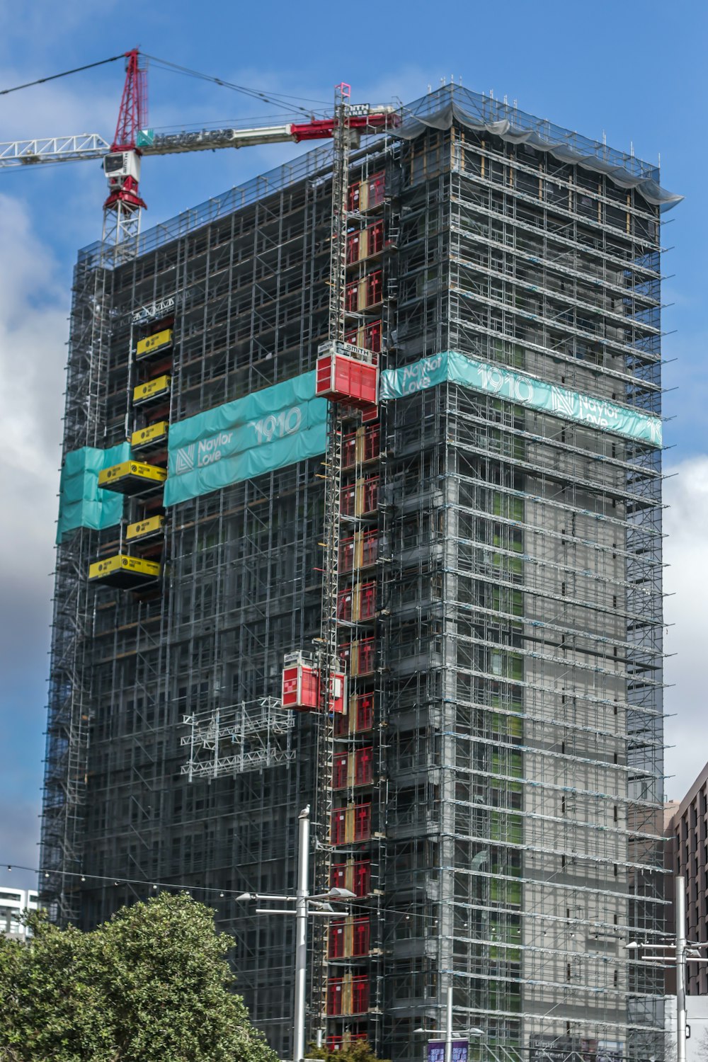
[[[667,526],[671,795],[708,746],[700,669],[708,638],[702,570],[708,527],[704,429],[708,5],[654,0],[588,6],[537,0],[343,5],[33,0],[0,10],[0,88],[133,47],[264,91],[323,101],[345,80],[358,102],[411,101],[454,78],[641,158],[660,153],[662,184],[686,201],[664,216],[666,430],[673,508]],[[121,64],[0,96],[0,140],[97,132],[113,136]],[[278,108],[162,70],[150,73],[151,124],[265,118]],[[273,147],[151,158],[141,191],[150,226],[271,169],[297,149]],[[98,239],[105,195],[98,164],[0,171],[0,867],[36,866],[47,650],[63,412],[63,365],[76,250]],[[0,870],[0,880],[2,871]],[[13,879],[19,881],[17,872]],[[30,878],[32,881],[32,878]],[[33,884],[33,883],[32,883]]]

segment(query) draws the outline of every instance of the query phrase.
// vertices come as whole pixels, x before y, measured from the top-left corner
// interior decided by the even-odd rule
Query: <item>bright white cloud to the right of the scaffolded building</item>
[[[664,618],[667,661],[668,794],[685,795],[708,759],[706,676],[708,652],[708,457],[668,468],[664,500]],[[672,475],[673,474],[673,475]]]

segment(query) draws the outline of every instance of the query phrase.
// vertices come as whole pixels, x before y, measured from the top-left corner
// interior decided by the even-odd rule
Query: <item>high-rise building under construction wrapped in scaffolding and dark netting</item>
[[[357,897],[311,932],[312,1040],[417,1060],[451,987],[472,1058],[658,1060],[662,972],[624,944],[666,904],[676,196],[459,86],[401,115],[349,158],[346,339],[380,400],[341,413],[335,512],[330,147],[79,256],[45,896],[89,927],[188,887],[290,1058],[292,920],[237,896],[293,891],[309,803],[317,889]],[[332,520],[346,692],[297,710]]]

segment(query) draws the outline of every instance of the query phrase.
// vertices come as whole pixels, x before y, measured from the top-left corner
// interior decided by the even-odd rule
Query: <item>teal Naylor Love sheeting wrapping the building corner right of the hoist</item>
[[[448,380],[507,398],[519,406],[543,410],[553,416],[661,446],[661,419],[652,413],[641,413],[499,365],[474,361],[455,350],[445,350],[402,369],[385,370],[381,373],[379,394],[384,400],[404,398]]]

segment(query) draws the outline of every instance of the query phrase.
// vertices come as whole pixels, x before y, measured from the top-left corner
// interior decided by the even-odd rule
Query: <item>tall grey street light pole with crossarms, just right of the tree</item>
[[[310,869],[310,805],[299,813],[297,832],[297,889],[294,896],[276,895],[264,892],[242,892],[237,900],[277,900],[280,903],[294,904],[294,908],[257,907],[256,914],[294,914],[295,915],[295,1011],[293,1014],[293,1060],[301,1062],[305,1058],[305,987],[307,977],[307,920],[308,918],[336,918],[340,911],[334,910],[332,903],[346,903],[356,900],[356,893],[349,889],[333,886],[328,892],[311,896],[309,893]],[[310,905],[314,905],[312,908]],[[449,1062],[449,1060],[448,1060]]]

